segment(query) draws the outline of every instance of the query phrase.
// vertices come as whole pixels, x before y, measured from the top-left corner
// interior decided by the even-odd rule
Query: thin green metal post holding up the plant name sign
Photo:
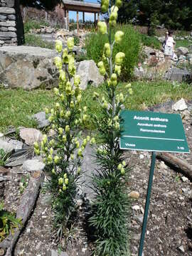
[[[151,198],[151,188],[152,188],[152,183],[153,183],[153,178],[154,178],[155,162],[156,162],[156,153],[152,152],[151,168],[150,168],[150,173],[149,173],[149,182],[148,182],[148,188],[147,188],[147,193],[146,193],[146,203],[145,203],[145,207],[144,207],[144,220],[143,220],[143,225],[142,225],[142,235],[140,238],[138,256],[142,256],[143,247],[144,247],[144,236],[146,233],[146,223],[147,223],[148,212],[149,212],[149,204],[150,204],[150,198]]]

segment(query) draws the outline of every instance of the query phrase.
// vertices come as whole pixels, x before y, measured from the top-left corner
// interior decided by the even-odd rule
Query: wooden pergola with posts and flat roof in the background
[[[63,0],[63,9],[64,9],[64,18],[67,18],[68,27],[69,27],[69,11],[77,12],[77,29],[79,30],[79,11],[82,12],[82,23],[85,23],[85,13],[95,14],[95,23],[96,23],[96,14],[97,20],[100,20],[100,4],[86,3],[83,1],[70,1]]]

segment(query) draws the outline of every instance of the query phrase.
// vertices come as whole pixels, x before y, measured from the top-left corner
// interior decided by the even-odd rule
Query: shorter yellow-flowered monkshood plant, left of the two
[[[48,138],[44,134],[41,145],[34,144],[35,153],[43,156],[46,169],[50,171],[48,186],[52,192],[55,228],[59,230],[60,238],[75,207],[83,151],[87,142],[95,142],[89,136],[81,138],[82,124],[88,118],[87,107],[81,107],[80,76],[76,75],[73,38],[68,38],[67,46],[63,49],[62,41],[55,42],[58,51],[55,65],[60,74],[58,88],[54,88],[57,100],[52,109],[46,109],[54,135]]]

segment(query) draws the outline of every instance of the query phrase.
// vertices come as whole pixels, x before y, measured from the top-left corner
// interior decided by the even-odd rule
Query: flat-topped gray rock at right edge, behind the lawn
[[[188,81],[191,80],[192,74],[188,70],[182,70],[180,68],[171,68],[165,75],[167,80],[171,81]]]

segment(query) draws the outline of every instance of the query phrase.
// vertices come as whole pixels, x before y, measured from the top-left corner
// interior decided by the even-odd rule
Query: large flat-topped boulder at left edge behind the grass
[[[55,50],[31,46],[0,48],[0,83],[32,90],[55,87],[58,71],[53,63]]]

